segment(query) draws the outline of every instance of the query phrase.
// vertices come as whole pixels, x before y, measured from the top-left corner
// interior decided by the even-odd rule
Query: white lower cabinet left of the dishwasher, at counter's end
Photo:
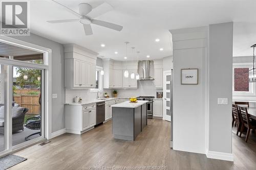
[[[66,132],[82,134],[96,125],[96,104],[66,105]]]

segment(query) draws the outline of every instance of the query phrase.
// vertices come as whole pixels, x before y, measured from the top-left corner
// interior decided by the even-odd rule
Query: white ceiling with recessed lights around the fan
[[[103,3],[100,0],[70,0],[59,3],[78,11],[78,4],[88,3],[93,7]],[[60,43],[76,43],[99,53],[104,58],[124,60],[125,41],[128,45],[128,59],[159,59],[172,55],[172,36],[170,29],[207,26],[212,23],[234,21],[242,29],[234,28],[234,56],[247,55],[251,52],[248,46],[256,43],[255,18],[256,1],[225,1],[225,0],[105,0],[114,10],[96,19],[109,21],[123,26],[121,32],[92,25],[93,35],[86,36],[79,22],[51,24],[47,20],[74,19],[74,14],[52,1],[31,1],[32,33],[52,39]],[[248,35],[241,32],[243,23],[251,23]],[[254,23],[253,23],[254,22]],[[236,26],[236,25],[235,25]],[[250,35],[253,35],[252,37]],[[157,43],[155,39],[159,38]],[[254,38],[254,39],[253,39]],[[242,41],[241,41],[242,40]],[[104,43],[105,47],[100,44]],[[132,52],[131,47],[135,47]],[[159,51],[162,47],[164,50]],[[114,54],[117,51],[118,54]]]

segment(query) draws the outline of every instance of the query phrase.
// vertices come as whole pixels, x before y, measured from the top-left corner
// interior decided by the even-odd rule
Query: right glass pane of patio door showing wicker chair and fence
[[[44,72],[42,69],[13,66],[13,146],[44,137]]]

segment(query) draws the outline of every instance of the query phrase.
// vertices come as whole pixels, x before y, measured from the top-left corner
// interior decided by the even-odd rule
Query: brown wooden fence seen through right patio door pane
[[[16,104],[29,109],[27,114],[40,114],[39,94],[14,94],[13,96]]]

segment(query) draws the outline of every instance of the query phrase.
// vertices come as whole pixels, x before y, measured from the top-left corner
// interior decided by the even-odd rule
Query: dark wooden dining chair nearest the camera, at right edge
[[[256,123],[250,118],[250,115],[248,114],[246,107],[239,106],[239,110],[240,110],[241,119],[242,119],[240,137],[241,137],[242,132],[244,131],[244,127],[246,127],[247,133],[246,133],[245,142],[247,142],[251,129],[252,130],[256,129]]]

